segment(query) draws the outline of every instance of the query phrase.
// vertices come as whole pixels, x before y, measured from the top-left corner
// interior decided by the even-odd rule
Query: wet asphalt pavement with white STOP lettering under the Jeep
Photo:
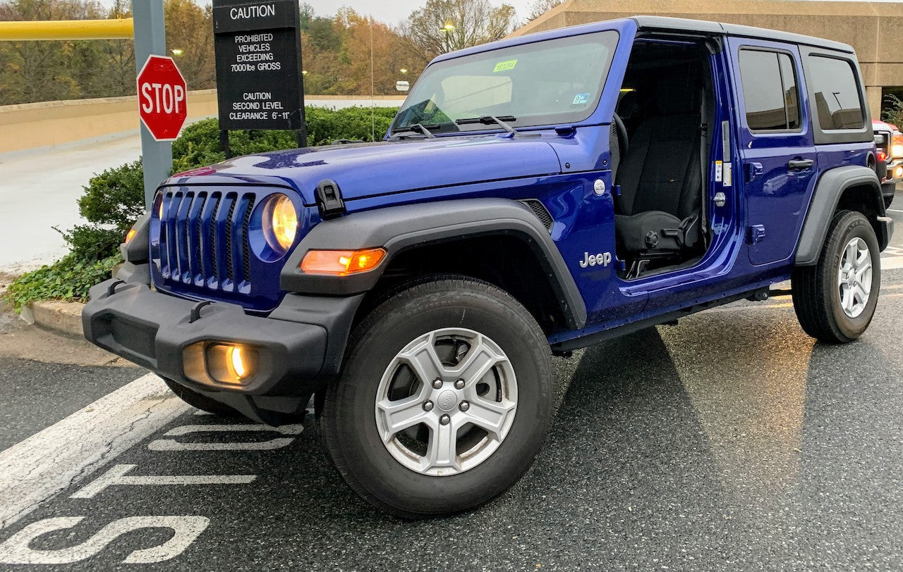
[[[886,267],[903,265],[899,231],[894,244]],[[556,359],[559,408],[535,466],[481,509],[429,521],[359,500],[311,416],[273,429],[197,414],[75,340],[17,355],[35,334],[7,320],[0,563],[898,569],[901,317],[903,270],[887,270],[848,346],[815,344],[780,297]]]

